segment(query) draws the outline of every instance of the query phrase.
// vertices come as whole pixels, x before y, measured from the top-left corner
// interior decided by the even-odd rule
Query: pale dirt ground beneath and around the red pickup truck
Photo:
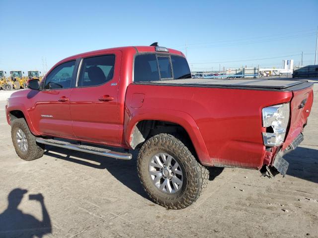
[[[284,157],[285,178],[212,168],[205,192],[183,210],[148,199],[136,154],[116,161],[48,147],[38,160],[21,160],[0,101],[0,238],[318,238],[318,80],[314,90],[305,140]]]

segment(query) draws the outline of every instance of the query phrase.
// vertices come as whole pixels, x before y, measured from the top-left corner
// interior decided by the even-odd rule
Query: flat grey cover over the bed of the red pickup
[[[175,86],[194,87],[232,87],[269,90],[299,90],[312,85],[308,81],[301,80],[274,80],[274,79],[214,79],[214,78],[187,78],[148,82],[152,84],[164,84]]]

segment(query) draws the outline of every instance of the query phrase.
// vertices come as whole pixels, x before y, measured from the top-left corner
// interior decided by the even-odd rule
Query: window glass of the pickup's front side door
[[[44,90],[70,88],[75,62],[72,60],[54,68],[45,79]]]

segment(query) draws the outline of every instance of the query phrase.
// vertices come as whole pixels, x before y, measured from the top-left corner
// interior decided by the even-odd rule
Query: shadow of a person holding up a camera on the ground
[[[0,214],[0,237],[43,237],[52,233],[51,219],[44,204],[44,197],[41,193],[30,194],[29,200],[39,202],[42,209],[42,221],[37,220],[30,214],[25,214],[17,207],[27,190],[15,188],[8,194],[8,206]]]

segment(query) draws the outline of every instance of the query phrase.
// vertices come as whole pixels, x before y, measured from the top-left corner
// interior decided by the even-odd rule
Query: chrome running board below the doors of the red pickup
[[[108,149],[89,146],[89,145],[72,144],[70,142],[65,142],[61,140],[36,138],[36,142],[41,144],[46,144],[46,145],[62,147],[62,148],[70,149],[70,150],[77,150],[77,151],[86,152],[90,154],[111,157],[111,158],[120,159],[120,160],[131,160],[133,157],[132,154],[115,152]]]

